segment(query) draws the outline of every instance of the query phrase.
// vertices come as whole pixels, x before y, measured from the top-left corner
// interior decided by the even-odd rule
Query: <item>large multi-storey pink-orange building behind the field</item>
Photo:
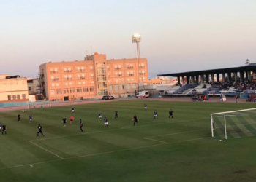
[[[148,83],[146,58],[107,60],[106,55],[88,55],[82,61],[44,63],[40,66],[41,87],[50,100],[126,97]]]

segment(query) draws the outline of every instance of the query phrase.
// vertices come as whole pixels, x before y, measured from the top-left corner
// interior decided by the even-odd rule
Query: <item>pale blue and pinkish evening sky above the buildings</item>
[[[157,74],[256,62],[255,0],[0,0],[0,74],[36,77],[49,61],[140,55]]]

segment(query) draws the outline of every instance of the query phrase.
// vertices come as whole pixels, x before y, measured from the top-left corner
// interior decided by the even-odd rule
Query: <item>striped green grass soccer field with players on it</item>
[[[0,113],[7,125],[7,135],[0,135],[0,181],[255,181],[256,120],[249,122],[251,132],[239,130],[224,142],[211,138],[209,119],[211,113],[255,108],[253,103],[126,100],[74,108],[72,125],[71,106]],[[98,120],[99,111],[109,127]],[[37,138],[39,123],[45,137]]]

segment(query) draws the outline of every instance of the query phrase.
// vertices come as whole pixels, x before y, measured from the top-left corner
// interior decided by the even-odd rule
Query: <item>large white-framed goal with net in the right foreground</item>
[[[211,136],[214,138],[241,138],[256,135],[256,108],[214,113]]]

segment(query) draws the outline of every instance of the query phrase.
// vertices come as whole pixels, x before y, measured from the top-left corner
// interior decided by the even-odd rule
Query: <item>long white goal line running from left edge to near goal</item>
[[[171,143],[159,143],[159,144],[155,144],[155,145],[151,145],[151,146],[139,146],[139,147],[130,148],[130,149],[121,149],[121,150],[116,150],[116,151],[107,151],[107,152],[102,152],[102,153],[95,153],[95,154],[87,154],[87,155],[83,155],[83,156],[69,157],[69,158],[65,158],[65,159],[56,159],[56,160],[50,160],[50,161],[45,161],[45,162],[37,162],[37,163],[29,164],[29,165],[16,165],[16,166],[11,166],[11,167],[3,167],[3,168],[0,168],[0,170],[6,170],[6,169],[10,169],[10,168],[15,168],[15,167],[26,167],[26,166],[30,166],[30,165],[41,165],[41,164],[45,164],[45,163],[58,162],[58,161],[63,161],[63,160],[67,160],[67,159],[75,159],[75,158],[91,157],[91,156],[97,156],[97,155],[103,155],[103,154],[111,154],[111,153],[116,153],[116,152],[120,152],[120,151],[145,149],[145,148],[149,148],[149,147],[162,146],[162,145],[168,145],[168,144],[173,144],[173,143],[182,143],[182,142],[187,142],[187,141],[198,141],[198,140],[203,140],[203,139],[208,139],[208,138],[211,138],[211,137],[194,138],[194,139],[190,139],[190,140],[186,140],[186,141],[175,141],[175,142],[171,142]]]

